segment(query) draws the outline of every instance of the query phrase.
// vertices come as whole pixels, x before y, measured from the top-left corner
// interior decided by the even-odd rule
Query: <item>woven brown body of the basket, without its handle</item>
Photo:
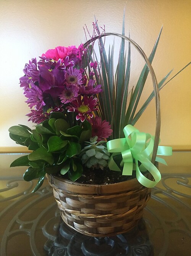
[[[114,236],[131,230],[142,217],[151,189],[137,179],[110,185],[85,185],[47,174],[66,225],[89,236]]]

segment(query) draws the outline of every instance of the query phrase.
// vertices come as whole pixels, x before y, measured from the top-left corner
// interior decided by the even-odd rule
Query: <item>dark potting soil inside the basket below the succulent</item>
[[[66,175],[59,174],[63,178],[68,178]],[[118,182],[123,182],[126,180],[131,180],[136,178],[135,171],[133,171],[133,175],[122,175],[122,172],[111,171],[109,169],[101,170],[101,169],[84,169],[83,175],[76,180],[76,182],[83,184],[92,184],[92,185],[106,185],[113,184]]]

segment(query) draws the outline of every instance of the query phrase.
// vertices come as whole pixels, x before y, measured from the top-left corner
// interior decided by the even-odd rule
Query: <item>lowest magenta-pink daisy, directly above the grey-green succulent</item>
[[[97,136],[98,141],[108,138],[113,130],[111,125],[106,120],[102,121],[101,117],[96,116],[90,120],[92,125],[92,137]]]

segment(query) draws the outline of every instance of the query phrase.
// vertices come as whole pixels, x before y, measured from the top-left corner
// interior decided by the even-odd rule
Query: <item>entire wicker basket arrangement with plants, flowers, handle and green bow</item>
[[[161,33],[161,31],[160,31]],[[108,56],[102,37],[121,37],[117,69],[114,47]],[[170,155],[170,147],[159,146],[160,99],[168,73],[157,84],[151,63],[160,34],[147,59],[142,49],[122,34],[94,33],[83,45],[58,46],[25,65],[20,86],[31,108],[27,115],[34,129],[19,124],[9,129],[11,139],[32,152],[15,160],[13,166],[27,166],[24,180],[45,175],[65,223],[92,236],[113,236],[133,228],[142,216],[151,188],[160,180],[156,157]],[[125,41],[129,41],[128,57]],[[99,42],[99,56],[94,51]],[[138,83],[129,91],[132,44],[146,61]],[[135,114],[148,73],[154,91]],[[155,97],[155,137],[139,132],[134,124]],[[107,143],[106,143],[107,142]],[[95,179],[95,181],[94,181]]]

